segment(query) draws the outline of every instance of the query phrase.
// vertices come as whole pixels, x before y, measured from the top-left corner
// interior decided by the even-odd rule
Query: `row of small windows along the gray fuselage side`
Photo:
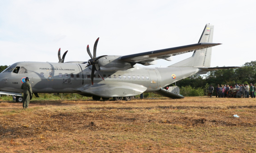
[[[42,73],[40,73],[40,75],[41,75],[41,77],[44,77],[44,73],[42,72]],[[50,72],[49,73],[49,75],[52,75],[52,73]],[[69,77],[69,74],[68,73],[65,73],[65,74],[62,74],[62,73],[59,73],[59,78],[62,78],[62,77],[65,77],[65,78],[68,78]],[[70,74],[70,77],[71,78],[74,78],[74,74]],[[76,78],[80,78],[80,75],[79,74],[76,74]],[[87,78],[91,78],[91,75],[90,74],[87,74]],[[96,78],[96,75],[94,74],[94,78]],[[100,77],[100,75],[98,75],[98,78],[101,78]],[[104,79],[106,79],[106,75],[104,74],[103,75],[103,78]],[[108,78],[109,79],[111,79],[112,78],[112,75],[108,75]],[[116,78],[118,78],[118,79],[122,79],[122,76],[121,75],[113,75],[113,79],[116,79]],[[127,77],[126,77],[126,75],[123,75],[123,79],[142,79],[142,80],[144,80],[144,79],[146,79],[146,80],[148,80],[149,79],[149,77],[148,76],[146,76],[146,77],[144,77],[143,75],[142,76],[140,76],[140,75],[137,75],[137,76],[135,76],[135,75],[127,75]]]

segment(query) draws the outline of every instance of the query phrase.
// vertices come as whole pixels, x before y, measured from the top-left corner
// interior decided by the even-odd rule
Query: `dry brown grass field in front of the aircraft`
[[[256,152],[256,99],[0,101],[0,152]]]

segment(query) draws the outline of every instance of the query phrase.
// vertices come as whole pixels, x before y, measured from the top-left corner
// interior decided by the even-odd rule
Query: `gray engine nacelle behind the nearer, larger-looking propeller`
[[[120,56],[110,55],[100,58],[99,66],[100,71],[119,71],[132,68],[130,62],[118,60]]]

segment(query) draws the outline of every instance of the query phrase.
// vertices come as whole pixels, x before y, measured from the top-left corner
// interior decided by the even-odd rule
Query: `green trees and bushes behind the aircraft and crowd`
[[[0,72],[8,66],[0,66]],[[234,84],[256,83],[256,61],[246,62],[243,68],[222,69],[209,71],[206,75],[194,74],[191,77],[176,82],[180,87],[180,94],[183,96],[203,96],[209,85],[215,88],[218,84],[234,86]],[[173,86],[171,84],[170,86]],[[148,97],[151,95],[146,94]],[[156,94],[155,94],[156,95]]]

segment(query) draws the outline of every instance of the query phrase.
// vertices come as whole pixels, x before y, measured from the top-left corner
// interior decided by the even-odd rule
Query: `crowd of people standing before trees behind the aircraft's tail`
[[[211,85],[209,88],[209,96],[212,97],[214,87]],[[217,85],[215,88],[216,98],[255,98],[256,87],[254,84],[235,84],[233,87],[229,85]]]

